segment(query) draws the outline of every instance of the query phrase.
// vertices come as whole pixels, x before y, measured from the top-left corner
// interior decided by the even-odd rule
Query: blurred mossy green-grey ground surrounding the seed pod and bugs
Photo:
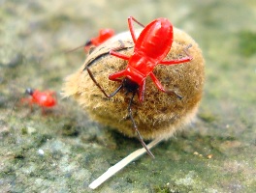
[[[129,15],[144,24],[167,17],[200,44],[204,99],[197,122],[153,149],[155,160],[141,157],[95,192],[256,192],[254,0],[0,0],[1,192],[90,192],[141,148],[59,94],[85,59],[65,51],[101,28],[126,31]],[[58,106],[30,112],[19,102],[27,87],[56,91]]]

